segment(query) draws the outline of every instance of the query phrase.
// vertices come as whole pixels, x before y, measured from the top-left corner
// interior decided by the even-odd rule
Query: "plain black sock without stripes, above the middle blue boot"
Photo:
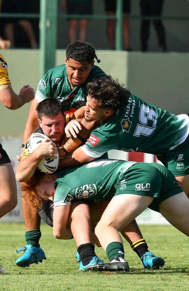
[[[80,255],[81,262],[83,266],[86,266],[90,260],[96,256],[95,254],[95,246],[93,244],[81,244],[77,251]]]

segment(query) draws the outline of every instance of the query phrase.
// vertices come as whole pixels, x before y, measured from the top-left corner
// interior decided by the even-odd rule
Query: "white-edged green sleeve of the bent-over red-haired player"
[[[56,191],[54,194],[54,207],[70,205],[73,200],[72,195],[70,195],[71,188],[69,185],[61,181],[55,182]]]

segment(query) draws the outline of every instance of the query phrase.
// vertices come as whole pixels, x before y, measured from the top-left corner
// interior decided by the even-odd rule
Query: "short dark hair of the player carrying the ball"
[[[42,100],[36,106],[36,111],[39,119],[42,119],[42,117],[51,118],[58,115],[60,112],[63,115],[65,114],[62,103],[55,98],[47,98]]]

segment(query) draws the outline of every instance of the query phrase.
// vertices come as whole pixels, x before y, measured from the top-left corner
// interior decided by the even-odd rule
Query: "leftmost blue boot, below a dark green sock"
[[[42,263],[42,260],[46,260],[44,251],[39,247],[35,248],[31,244],[26,244],[26,246],[23,246],[22,248],[19,248],[16,253],[24,251],[22,257],[18,258],[16,260],[16,265],[19,267],[29,267],[29,265],[35,263],[38,264],[38,262]]]

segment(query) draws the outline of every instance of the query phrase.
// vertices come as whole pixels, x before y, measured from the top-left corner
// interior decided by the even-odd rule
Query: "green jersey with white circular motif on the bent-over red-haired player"
[[[71,204],[72,200],[88,203],[110,200],[122,171],[136,162],[100,159],[78,168],[67,168],[54,183],[54,207]]]

